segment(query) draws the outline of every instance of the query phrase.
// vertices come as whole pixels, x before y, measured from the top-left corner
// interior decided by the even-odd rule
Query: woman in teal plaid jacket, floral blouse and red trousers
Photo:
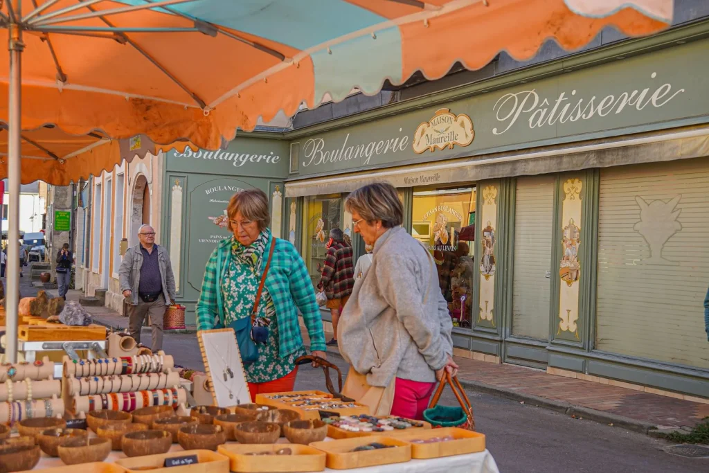
[[[268,197],[260,190],[234,194],[227,207],[228,228],[234,235],[212,252],[197,302],[197,330],[231,327],[238,330],[250,318],[263,269],[275,245],[257,311],[257,324],[268,328],[258,354],[245,362],[252,401],[257,394],[293,391],[297,357],[306,354],[300,310],[313,355],[325,358],[325,333],[305,262],[291,243],[274,238]],[[250,326],[250,323],[249,323]],[[242,354],[243,355],[243,354]]]

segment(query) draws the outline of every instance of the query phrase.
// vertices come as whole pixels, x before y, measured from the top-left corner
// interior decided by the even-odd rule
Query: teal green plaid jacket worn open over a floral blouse
[[[276,244],[271,267],[266,277],[266,289],[276,307],[279,330],[279,355],[286,357],[303,347],[298,309],[311,338],[312,351],[325,351],[325,332],[320,318],[320,308],[315,299],[315,289],[296,248],[286,240],[269,237],[264,250],[262,268],[266,265],[271,245]],[[212,252],[204,269],[202,292],[197,301],[197,330],[210,330],[224,326],[224,304],[220,286],[231,259],[231,239],[222,240]],[[259,272],[260,274],[260,272]]]

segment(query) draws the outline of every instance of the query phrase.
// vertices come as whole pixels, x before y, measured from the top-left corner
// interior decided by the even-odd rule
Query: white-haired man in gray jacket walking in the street
[[[140,243],[128,248],[118,270],[123,297],[128,302],[128,331],[140,343],[145,316],[152,325],[152,351],[162,350],[162,320],[165,309],[175,299],[175,278],[170,257],[155,244],[155,230],[143,225],[138,230]]]

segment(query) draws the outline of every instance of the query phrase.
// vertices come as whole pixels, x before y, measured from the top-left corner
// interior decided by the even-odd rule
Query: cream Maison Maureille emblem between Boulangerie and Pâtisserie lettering
[[[421,123],[413,134],[413,150],[418,154],[436,149],[452,150],[455,145],[473,143],[475,132],[470,117],[461,113],[455,116],[450,108],[441,108],[426,123]]]

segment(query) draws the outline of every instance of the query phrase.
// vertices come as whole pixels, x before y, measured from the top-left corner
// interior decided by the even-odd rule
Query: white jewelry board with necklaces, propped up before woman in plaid
[[[199,330],[197,340],[214,405],[229,407],[250,403],[246,370],[234,330]]]

